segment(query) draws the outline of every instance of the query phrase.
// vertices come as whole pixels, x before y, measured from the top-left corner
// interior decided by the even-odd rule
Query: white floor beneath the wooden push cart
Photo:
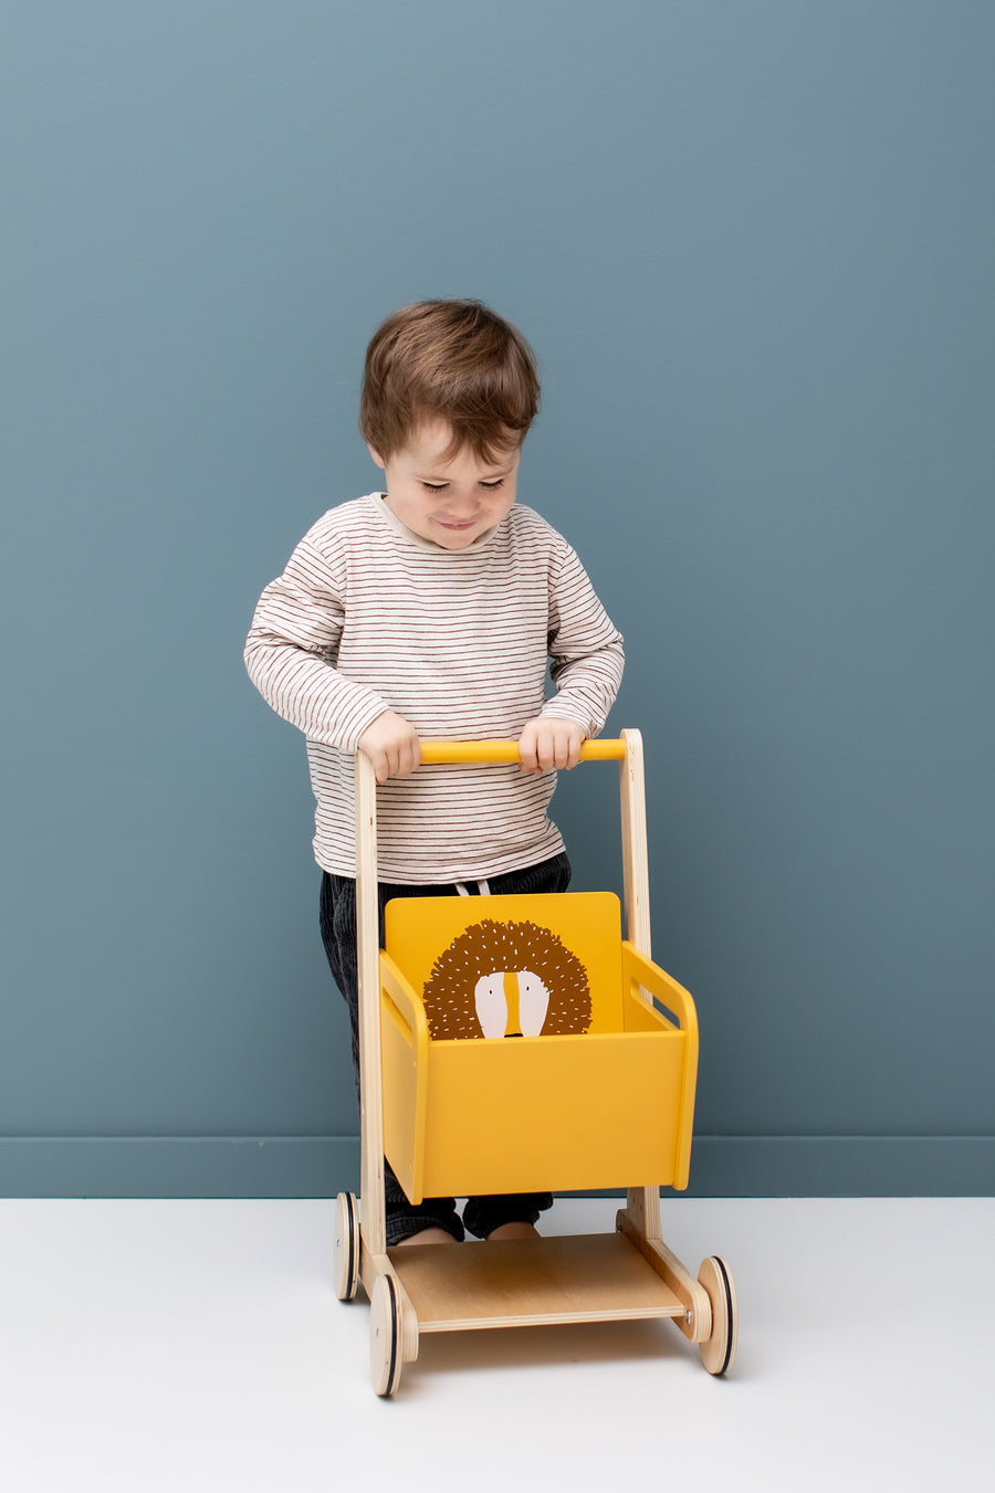
[[[381,1400],[332,1203],[0,1202],[0,1487],[995,1487],[995,1199],[678,1200],[663,1232],[734,1269],[726,1380],[671,1323],[535,1327],[426,1338]]]

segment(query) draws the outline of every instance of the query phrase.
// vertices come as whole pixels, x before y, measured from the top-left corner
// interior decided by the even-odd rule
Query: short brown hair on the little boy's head
[[[480,300],[421,300],[393,312],[366,349],[360,430],[381,458],[435,420],[453,428],[447,455],[484,461],[520,445],[539,409],[535,354]]]

